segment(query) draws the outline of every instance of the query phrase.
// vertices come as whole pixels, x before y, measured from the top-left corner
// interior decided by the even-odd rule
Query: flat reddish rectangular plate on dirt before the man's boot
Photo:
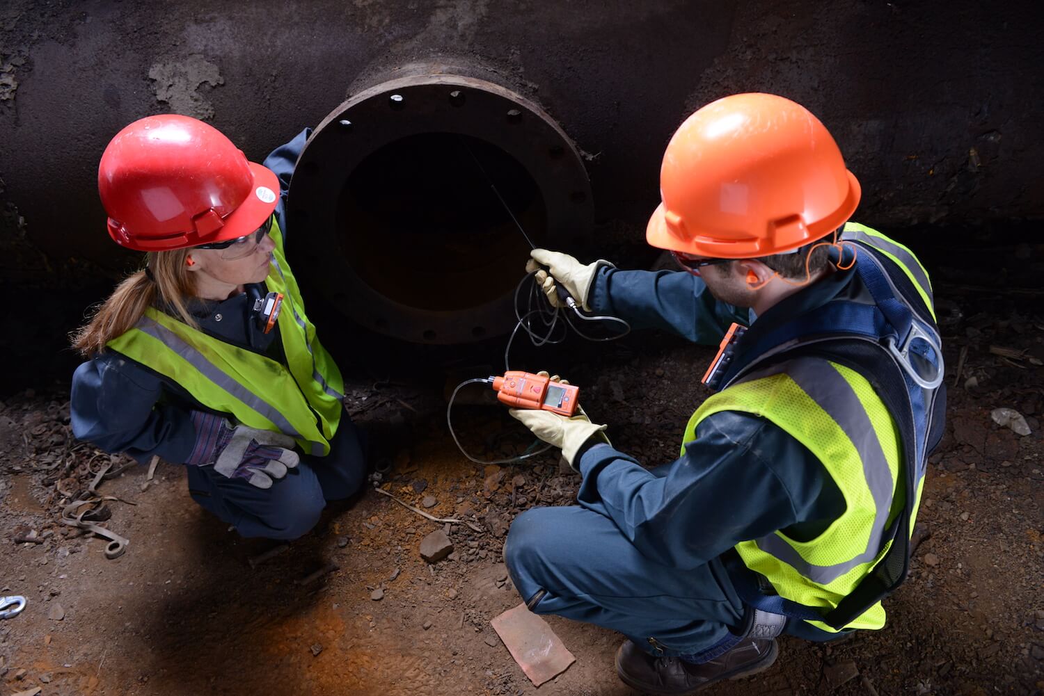
[[[524,603],[490,623],[535,687],[562,674],[576,662],[547,622],[525,608]]]

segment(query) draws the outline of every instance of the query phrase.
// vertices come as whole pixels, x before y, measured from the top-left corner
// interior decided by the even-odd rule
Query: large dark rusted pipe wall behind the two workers
[[[1040,217],[1038,16],[1033,0],[10,0],[0,273],[65,281],[96,272],[85,260],[128,261],[103,232],[95,176],[129,121],[206,118],[257,160],[418,63],[484,66],[549,114],[589,155],[596,220],[623,220],[636,243],[674,127],[752,90],[823,118],[863,185],[862,221]]]

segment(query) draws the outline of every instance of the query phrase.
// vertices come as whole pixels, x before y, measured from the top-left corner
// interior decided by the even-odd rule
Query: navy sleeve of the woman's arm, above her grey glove
[[[181,463],[195,445],[187,408],[161,399],[163,383],[134,361],[105,354],[82,363],[72,379],[72,432],[110,453],[144,463],[152,455]]]

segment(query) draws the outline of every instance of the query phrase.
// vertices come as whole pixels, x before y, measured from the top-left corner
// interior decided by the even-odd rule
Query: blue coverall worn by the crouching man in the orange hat
[[[853,280],[837,271],[793,297],[815,307],[857,291]],[[755,319],[685,271],[602,268],[589,303],[634,329],[714,345],[733,321]],[[651,638],[662,654],[697,662],[739,640],[744,607],[730,573],[745,571],[727,569],[722,554],[780,529],[811,539],[845,510],[845,500],[820,460],[765,418],[721,411],[701,422],[696,435],[683,457],[651,471],[609,445],[582,450],[574,462],[583,475],[579,505],[535,508],[515,520],[504,558],[533,611],[612,628],[649,651]],[[837,637],[802,621],[788,621],[786,630]]]

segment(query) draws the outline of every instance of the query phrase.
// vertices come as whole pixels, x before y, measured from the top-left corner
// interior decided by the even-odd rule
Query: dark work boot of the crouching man
[[[682,657],[656,657],[632,641],[616,651],[616,673],[623,683],[650,694],[690,694],[722,679],[738,679],[768,669],[779,648],[775,639],[744,639],[723,655],[699,665]]]

